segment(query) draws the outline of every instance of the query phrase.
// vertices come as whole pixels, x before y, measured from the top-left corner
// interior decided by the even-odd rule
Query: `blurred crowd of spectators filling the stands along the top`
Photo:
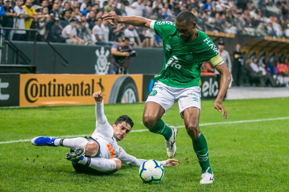
[[[110,26],[102,19],[110,11],[174,21],[182,10],[190,10],[201,31],[289,38],[289,0],[0,0],[0,4],[2,27],[34,28],[50,42],[109,44],[127,35],[135,46],[162,47],[148,29]],[[4,34],[14,40],[33,37],[25,30]]]

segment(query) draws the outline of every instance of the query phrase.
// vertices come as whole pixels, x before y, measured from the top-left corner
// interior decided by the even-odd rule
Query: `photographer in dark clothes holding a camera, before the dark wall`
[[[109,74],[128,74],[130,57],[136,56],[136,51],[132,50],[130,40],[127,36],[122,36],[119,43],[111,47],[111,66]]]

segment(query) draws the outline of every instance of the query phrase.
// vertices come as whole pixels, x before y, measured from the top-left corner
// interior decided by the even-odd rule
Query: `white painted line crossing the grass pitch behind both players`
[[[221,124],[233,124],[233,123],[249,123],[249,122],[260,122],[260,121],[275,121],[275,120],[284,120],[289,119],[289,117],[279,117],[279,118],[270,118],[270,119],[254,119],[254,120],[244,120],[244,121],[228,121],[228,122],[214,122],[214,123],[202,123],[199,124],[199,126],[208,126],[208,125],[221,125]],[[183,128],[185,126],[176,126],[177,128]],[[148,131],[148,129],[141,129],[141,130],[131,130],[130,133],[133,132],[143,132]],[[54,138],[74,138],[74,137],[84,137],[87,135],[64,135],[64,136],[53,136]],[[27,142],[31,141],[32,139],[20,139],[15,141],[1,141],[0,144],[6,144],[6,143],[18,143],[18,142]]]

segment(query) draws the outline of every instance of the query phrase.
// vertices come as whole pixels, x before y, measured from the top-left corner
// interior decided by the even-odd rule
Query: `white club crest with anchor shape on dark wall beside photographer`
[[[95,51],[95,54],[97,56],[97,61],[94,66],[95,74],[108,74],[109,65],[107,64],[107,56],[109,55],[109,51],[104,51],[104,47],[101,47],[100,51],[98,49]]]

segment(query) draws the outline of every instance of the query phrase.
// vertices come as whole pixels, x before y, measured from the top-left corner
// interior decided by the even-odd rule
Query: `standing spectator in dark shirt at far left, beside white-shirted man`
[[[0,24],[2,25],[2,27],[9,27],[9,28],[13,28],[13,18],[17,16],[16,13],[14,13],[14,10],[12,7],[10,7],[11,1],[10,0],[4,0],[3,1],[3,7],[5,10],[5,17],[3,17],[3,19],[0,21]],[[9,29],[5,29],[3,31],[4,36],[11,40],[12,36],[11,36],[11,30]]]

